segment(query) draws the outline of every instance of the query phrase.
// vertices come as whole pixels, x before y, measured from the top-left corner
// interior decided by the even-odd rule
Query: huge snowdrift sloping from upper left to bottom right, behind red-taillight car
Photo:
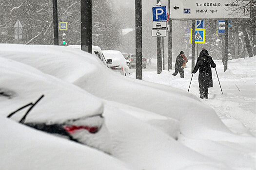
[[[236,170],[255,167],[255,137],[232,133],[212,107],[187,91],[115,74],[98,65],[100,61],[92,54],[74,49],[9,44],[0,45],[0,49],[0,56],[38,68],[101,98],[105,103],[106,125],[115,141],[113,155],[135,169]],[[142,115],[139,109],[177,123],[171,128],[175,129],[172,137],[134,119],[149,118],[150,114],[143,112]],[[133,115],[129,115],[130,112]]]

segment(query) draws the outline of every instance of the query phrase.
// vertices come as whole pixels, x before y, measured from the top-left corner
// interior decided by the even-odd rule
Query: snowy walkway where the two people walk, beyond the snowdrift
[[[214,87],[209,88],[209,99],[201,100],[215,109],[222,121],[238,134],[256,133],[256,59],[236,59],[228,62],[228,69],[224,72],[221,61],[217,64],[217,74],[223,95],[218,83],[216,70],[212,69]],[[174,64],[173,64],[174,66]],[[166,68],[168,66],[166,65]],[[153,66],[143,69],[143,80],[164,85],[171,85],[185,91],[188,90],[191,80],[191,60],[184,69],[185,79],[174,77],[174,70],[163,70],[157,74],[156,62]],[[135,78],[135,69],[131,69],[131,77]],[[198,72],[193,76],[190,93],[199,97]],[[246,127],[246,128],[245,128]],[[248,132],[248,130],[250,132]]]

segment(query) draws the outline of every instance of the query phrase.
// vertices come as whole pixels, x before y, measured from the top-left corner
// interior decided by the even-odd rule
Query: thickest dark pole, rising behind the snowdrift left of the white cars
[[[81,50],[92,53],[92,0],[81,0]]]

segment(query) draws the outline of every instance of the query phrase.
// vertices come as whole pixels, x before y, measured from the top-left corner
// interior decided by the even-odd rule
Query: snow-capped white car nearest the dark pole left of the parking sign
[[[120,72],[122,75],[130,75],[130,62],[124,58],[120,51],[102,50],[102,53],[107,59],[112,59],[112,64],[109,65],[110,68]]]

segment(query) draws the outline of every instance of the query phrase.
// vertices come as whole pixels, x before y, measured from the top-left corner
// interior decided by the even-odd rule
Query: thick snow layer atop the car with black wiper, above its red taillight
[[[86,118],[103,112],[102,102],[79,87],[2,57],[0,92],[0,114],[5,117],[44,95],[29,113],[26,122],[63,123],[68,119]],[[12,119],[19,120],[27,110],[21,110]]]

